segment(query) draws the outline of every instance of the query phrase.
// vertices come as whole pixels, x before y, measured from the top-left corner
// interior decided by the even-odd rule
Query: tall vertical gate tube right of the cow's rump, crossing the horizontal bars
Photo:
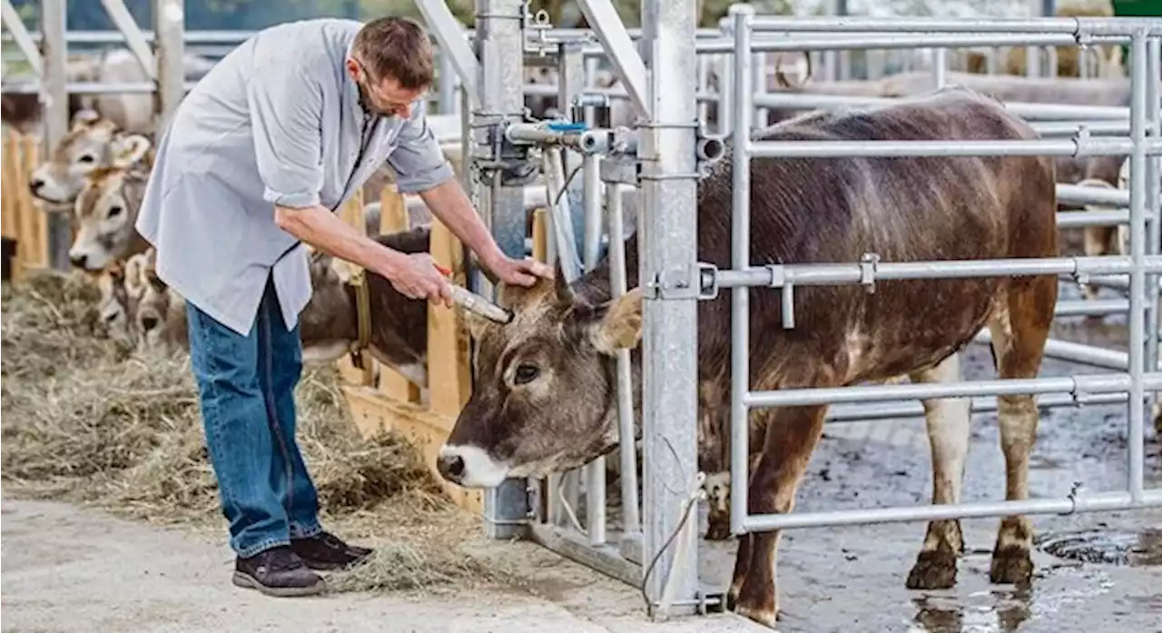
[[[1142,501],[1145,451],[1145,387],[1146,371],[1146,29],[1134,34],[1129,45],[1129,429],[1126,437],[1129,498]]]

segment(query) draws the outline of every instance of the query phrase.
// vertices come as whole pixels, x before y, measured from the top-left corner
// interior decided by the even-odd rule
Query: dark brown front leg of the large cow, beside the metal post
[[[752,515],[787,513],[803,480],[811,453],[823,434],[826,407],[787,407],[772,410],[770,426],[747,490]],[[727,596],[734,612],[775,627],[779,611],[775,560],[779,531],[747,534],[739,544],[734,580]],[[746,556],[747,560],[743,560]]]

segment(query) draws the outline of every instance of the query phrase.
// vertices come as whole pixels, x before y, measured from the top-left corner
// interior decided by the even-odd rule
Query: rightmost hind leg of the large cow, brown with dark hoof
[[[1011,282],[998,297],[989,322],[997,373],[1002,379],[1037,377],[1049,336],[1057,282],[1024,278]],[[997,419],[1005,456],[1005,498],[1028,498],[1028,459],[1037,439],[1039,413],[1033,395],[999,396]],[[994,583],[1027,584],[1033,575],[1030,548],[1033,526],[1023,515],[1000,520],[989,578]]]

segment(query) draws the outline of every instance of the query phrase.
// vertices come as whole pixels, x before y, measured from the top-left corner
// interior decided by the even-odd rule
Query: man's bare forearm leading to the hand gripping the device
[[[363,266],[383,276],[397,266],[401,253],[367,238],[328,209],[274,208],[274,222],[284,231],[324,253]]]

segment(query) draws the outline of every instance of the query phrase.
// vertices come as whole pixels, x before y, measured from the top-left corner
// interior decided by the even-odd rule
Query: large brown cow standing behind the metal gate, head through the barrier
[[[774,125],[760,139],[1033,139],[1037,132],[994,100],[949,88],[866,113],[816,113]],[[751,264],[1054,257],[1057,229],[1054,167],[1040,157],[755,159],[751,167]],[[698,187],[698,259],[731,260],[730,161]],[[611,301],[608,262],[572,285],[502,287],[504,324],[466,318],[478,341],[476,384],[438,468],[469,488],[507,477],[539,477],[579,467],[617,443],[614,376],[618,348],[633,348],[634,402],[640,407],[641,295],[637,236],[626,243],[629,283]],[[784,330],[779,293],[752,294],[752,389],[839,387],[890,380],[955,380],[956,352],[985,325],[1002,377],[1033,377],[1057,296],[1054,275],[805,287],[796,294],[802,324]],[[698,307],[702,393],[729,393],[730,302]],[[1032,395],[999,398],[1006,495],[1028,495],[1037,432]],[[969,439],[968,404],[927,401],[933,503],[957,503]],[[823,431],[826,405],[755,411],[766,427],[747,491],[751,513],[789,512]],[[640,431],[639,431],[640,433]],[[774,626],[777,532],[746,534],[739,545],[729,605]],[[1000,521],[992,553],[995,583],[1027,582],[1032,526]],[[948,588],[964,549],[957,520],[932,521],[908,587]]]

